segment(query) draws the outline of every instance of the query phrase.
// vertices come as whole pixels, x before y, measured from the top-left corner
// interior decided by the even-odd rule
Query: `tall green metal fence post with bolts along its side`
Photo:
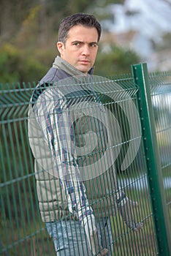
[[[134,82],[139,87],[137,99],[159,255],[169,256],[171,255],[170,222],[164,198],[164,184],[161,176],[147,64],[132,65],[132,75],[134,76]]]

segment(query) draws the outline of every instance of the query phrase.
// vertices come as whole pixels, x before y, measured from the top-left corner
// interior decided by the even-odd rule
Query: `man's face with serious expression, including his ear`
[[[97,40],[96,28],[76,25],[69,29],[65,45],[57,42],[57,48],[62,59],[87,74],[96,60]]]

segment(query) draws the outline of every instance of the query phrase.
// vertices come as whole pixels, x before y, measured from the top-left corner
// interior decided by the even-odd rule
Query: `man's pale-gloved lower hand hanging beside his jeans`
[[[107,253],[109,252],[108,249],[103,249],[102,246],[99,246],[94,215],[89,215],[83,220],[83,227],[85,229],[88,244],[93,255],[107,255]]]

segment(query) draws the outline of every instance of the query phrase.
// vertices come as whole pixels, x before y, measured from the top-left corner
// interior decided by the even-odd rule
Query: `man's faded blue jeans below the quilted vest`
[[[58,220],[46,222],[47,231],[56,249],[58,256],[92,256],[83,227],[79,221]],[[112,255],[113,233],[110,218],[100,218],[96,221],[99,244],[109,249],[108,256]]]

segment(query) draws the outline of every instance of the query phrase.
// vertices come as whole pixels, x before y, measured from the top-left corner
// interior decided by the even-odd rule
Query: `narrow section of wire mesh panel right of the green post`
[[[152,73],[149,75],[149,83],[161,157],[164,192],[171,221],[171,74],[169,72]]]

